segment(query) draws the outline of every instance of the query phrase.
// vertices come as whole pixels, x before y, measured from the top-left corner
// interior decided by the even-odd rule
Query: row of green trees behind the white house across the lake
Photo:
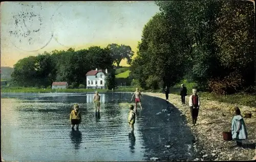
[[[93,69],[108,69],[106,82],[114,82],[114,63],[122,59],[131,63],[134,55],[130,46],[109,44],[105,48],[91,46],[88,49],[45,51],[38,56],[19,60],[11,74],[14,85],[22,87],[49,87],[53,82],[68,82],[71,88],[86,86],[86,73]],[[114,83],[109,83],[110,89]],[[82,87],[83,87],[82,86]]]

